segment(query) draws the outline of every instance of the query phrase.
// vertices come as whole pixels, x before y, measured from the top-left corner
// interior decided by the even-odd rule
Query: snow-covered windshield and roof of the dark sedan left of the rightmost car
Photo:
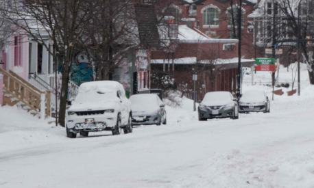
[[[204,96],[202,105],[215,106],[226,105],[232,102],[232,95],[230,92],[209,92]]]

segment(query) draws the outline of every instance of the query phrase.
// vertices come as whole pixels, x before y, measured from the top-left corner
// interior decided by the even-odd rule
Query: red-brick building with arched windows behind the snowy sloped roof
[[[160,0],[156,10],[171,15],[176,23],[199,29],[210,38],[237,38],[237,1],[227,0]],[[255,57],[253,22],[248,18],[254,10],[254,0],[243,0],[242,56]],[[234,15],[232,18],[232,14]],[[234,27],[233,27],[234,25]]]

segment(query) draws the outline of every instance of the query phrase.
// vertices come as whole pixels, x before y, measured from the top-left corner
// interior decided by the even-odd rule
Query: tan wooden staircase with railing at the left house
[[[51,116],[51,92],[40,91],[11,70],[0,68],[3,75],[3,105],[19,105],[34,116]]]

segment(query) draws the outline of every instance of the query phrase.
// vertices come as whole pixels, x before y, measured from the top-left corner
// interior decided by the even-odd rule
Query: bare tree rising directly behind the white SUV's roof
[[[95,63],[97,80],[108,80],[125,52],[138,45],[131,0],[95,0],[86,23],[86,51]]]

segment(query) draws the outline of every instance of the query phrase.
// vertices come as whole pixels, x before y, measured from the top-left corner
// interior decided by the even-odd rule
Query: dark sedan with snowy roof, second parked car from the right
[[[237,100],[230,92],[208,92],[198,107],[198,119],[239,118]]]

